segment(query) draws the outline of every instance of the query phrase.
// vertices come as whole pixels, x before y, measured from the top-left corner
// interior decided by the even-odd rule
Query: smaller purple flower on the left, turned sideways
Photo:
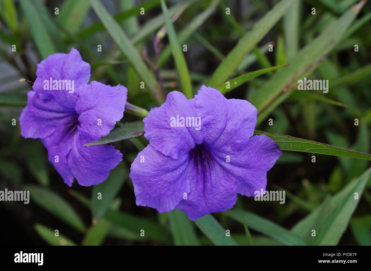
[[[112,145],[83,146],[107,135],[122,118],[127,88],[89,82],[90,65],[73,49],[37,65],[33,90],[19,121],[24,138],[40,138],[49,161],[69,186],[107,179],[122,160]]]

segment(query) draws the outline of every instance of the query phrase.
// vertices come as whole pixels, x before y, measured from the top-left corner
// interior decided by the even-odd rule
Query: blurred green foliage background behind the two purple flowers
[[[178,43],[187,44],[187,52],[183,54],[193,93],[209,82],[237,41],[244,39],[245,33],[253,33],[252,26],[278,2],[166,2],[169,16],[175,15],[173,25]],[[359,14],[351,11],[352,15],[347,10],[357,3],[354,0],[281,2],[292,2],[282,7],[281,13],[285,15],[270,13],[255,28],[262,37],[250,35],[243,40],[242,64],[219,68],[228,79],[262,68],[291,65],[250,79],[226,97],[247,99],[262,112],[256,129],[369,153],[371,4],[366,3]],[[82,187],[75,182],[69,188],[47,161],[40,140],[20,136],[18,118],[27,104],[26,92],[31,86],[16,80],[34,81],[37,63],[49,54],[67,53],[74,47],[91,64],[91,80],[125,85],[128,101],[150,110],[158,101],[150,88],[141,89],[139,85],[142,80],[148,80],[146,72],[151,77],[154,73],[148,61],[147,69],[138,73],[138,64],[133,61],[135,54],[130,50],[140,54],[141,61],[147,58],[154,64],[153,44],[160,38],[159,74],[167,91],[186,91],[187,78],[182,77],[187,68],[181,61],[175,64],[173,56],[178,60],[181,57],[176,48],[170,49],[167,34],[158,32],[160,28],[164,30],[165,24],[161,1],[1,0],[0,3],[0,190],[31,192],[28,205],[0,203],[1,223],[5,227],[1,236],[5,240],[3,244],[234,244],[231,240],[235,240],[247,245],[243,213],[255,245],[371,244],[370,170],[365,172],[370,166],[368,160],[316,155],[316,162],[312,163],[312,153],[284,151],[267,174],[267,190],[286,190],[286,203],[254,201],[239,195],[232,211],[212,215],[219,223],[210,216],[193,223],[177,210],[159,214],[154,209],[135,205],[128,169],[138,149],[147,143],[143,137],[114,144],[124,154],[124,160],[103,184]],[[115,16],[124,36],[117,32],[112,35],[107,25],[99,23],[102,20],[96,13],[102,11],[97,8],[99,3],[108,11],[101,16],[109,17],[108,20]],[[54,14],[56,7],[59,15]],[[145,7],[144,15],[139,14],[141,7]],[[230,15],[226,15],[227,7]],[[313,7],[316,15],[311,14]],[[327,34],[316,40],[321,33]],[[128,43],[132,47],[126,46]],[[13,44],[16,52],[11,50]],[[98,44],[102,45],[102,52],[96,50]],[[274,45],[273,52],[268,51],[269,44]],[[354,51],[355,44],[359,46],[358,52]],[[300,55],[303,48],[306,54]],[[329,93],[293,91],[282,95],[281,86],[294,85],[295,89],[293,83],[298,80],[292,76],[295,72],[310,79],[328,79]],[[222,77],[222,82],[227,81]],[[147,81],[146,84],[149,85]],[[269,102],[275,106],[267,108]],[[11,124],[13,118],[17,119],[16,126]],[[270,118],[273,126],[268,125]],[[354,125],[355,118],[359,119],[358,126]],[[125,111],[121,123],[139,119]],[[363,179],[357,179],[364,172]],[[354,179],[357,182],[352,182]],[[361,183],[366,182],[357,206],[349,201],[347,193],[352,189],[359,191]],[[102,201],[92,197],[97,192],[104,194]],[[313,210],[317,211],[303,221]],[[299,221],[303,224],[292,230]],[[319,234],[321,240],[310,238],[312,228],[325,233]],[[54,236],[55,229],[59,230],[59,238]],[[139,235],[141,229],[145,230],[145,237]],[[225,229],[231,232],[229,239],[224,237]]]

